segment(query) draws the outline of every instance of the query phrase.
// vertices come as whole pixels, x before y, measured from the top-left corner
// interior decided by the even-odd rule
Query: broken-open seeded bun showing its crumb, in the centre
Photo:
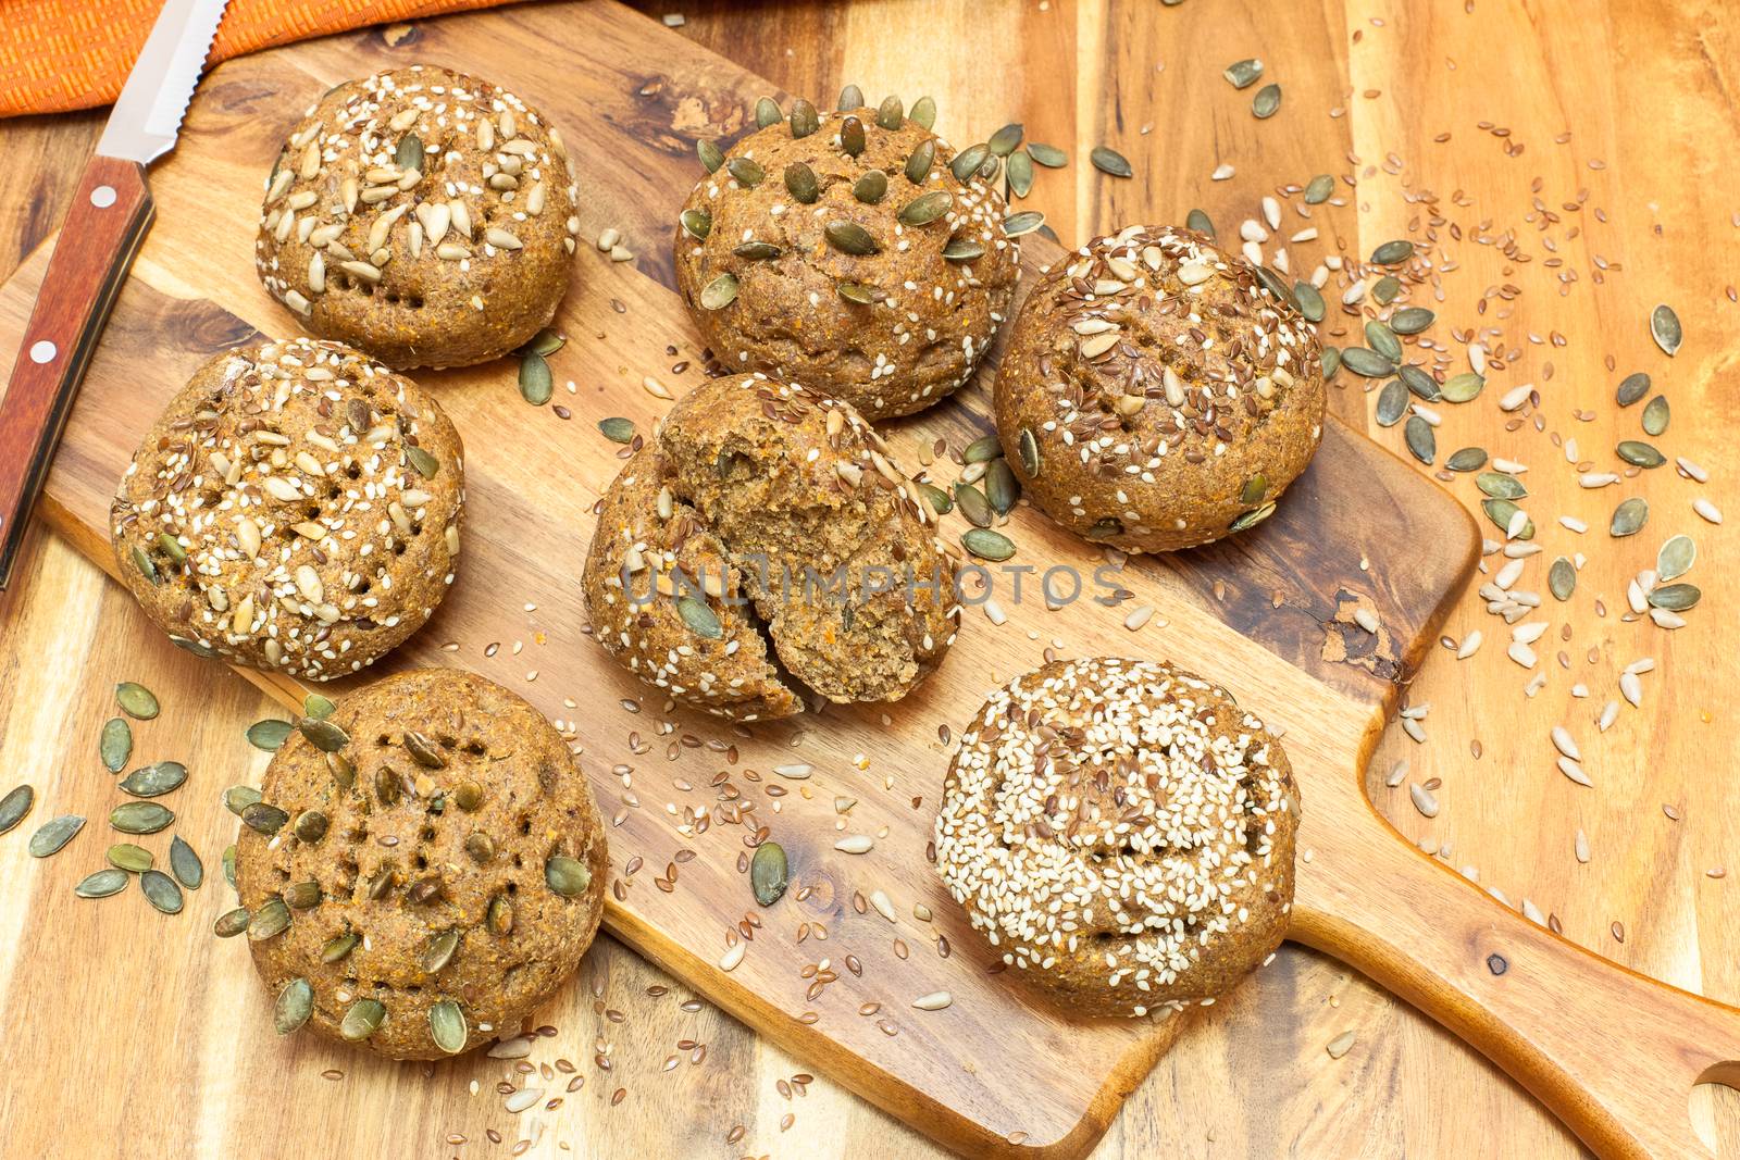
[[[818,391],[760,374],[710,379],[670,410],[602,511],[585,574],[599,642],[722,717],[797,713],[802,689],[839,704],[898,701],[960,624],[917,487],[851,403]],[[673,563],[712,567],[679,581]],[[625,565],[633,591],[658,600],[628,607]]]

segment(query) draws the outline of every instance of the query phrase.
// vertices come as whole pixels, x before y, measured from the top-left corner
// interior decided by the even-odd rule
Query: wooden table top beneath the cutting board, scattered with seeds
[[[1543,551],[1526,562],[1517,588],[1545,597],[1529,619],[1550,621],[1535,643],[1535,673],[1547,683],[1526,696],[1533,673],[1505,657],[1509,628],[1470,591],[1446,635],[1465,642],[1479,630],[1486,643],[1463,661],[1448,649],[1427,659],[1408,692],[1411,704],[1432,706],[1422,722],[1427,741],[1390,730],[1368,777],[1373,798],[1409,838],[1512,904],[1528,899],[1566,937],[1740,1002],[1740,906],[1726,873],[1740,870],[1726,823],[1740,743],[1724,696],[1737,583],[1717,567],[1740,557],[1731,530],[1691,510],[1703,497],[1740,517],[1724,454],[1733,428],[1721,417],[1740,376],[1731,353],[1740,350],[1740,195],[1731,183],[1740,172],[1731,96],[1740,12],[1700,0],[640,7],[652,17],[680,9],[684,35],[790,92],[832,99],[847,80],[870,94],[929,92],[943,110],[940,129],[957,144],[1025,122],[1028,139],[1070,153],[1067,169],[1041,172],[1028,198],[1065,242],[1134,219],[1181,221],[1192,207],[1230,238],[1241,221],[1262,217],[1265,193],[1319,172],[1336,176],[1347,203],[1322,207],[1319,238],[1289,243],[1298,277],[1324,254],[1368,254],[1389,237],[1436,228],[1455,268],[1442,273],[1441,299],[1415,296],[1439,311],[1430,336],[1451,370],[1467,367],[1474,339],[1503,363],[1474,403],[1437,405],[1439,466],[1451,449],[1479,445],[1533,468],[1522,477],[1531,492],[1524,506]],[[1237,92],[1220,77],[1242,57],[1262,57],[1263,83],[1282,85],[1282,111],[1267,122],[1249,113],[1256,87]],[[656,71],[649,61],[649,77]],[[26,118],[0,132],[0,277],[59,224],[101,123],[103,113]],[[1101,143],[1122,151],[1138,179],[1096,174],[1086,155]],[[1215,163],[1232,165],[1234,177],[1211,181]],[[1282,231],[1303,224],[1284,223]],[[1265,254],[1274,247],[1265,243]],[[1359,320],[1338,310],[1340,282],[1329,287],[1326,341],[1361,344]],[[1684,348],[1672,360],[1648,332],[1660,301],[1684,323]],[[1637,426],[1641,405],[1620,410],[1613,402],[1630,370],[1648,370],[1672,403],[1672,426],[1653,440],[1670,466],[1580,487],[1564,438],[1576,438],[1592,471],[1623,471],[1613,443],[1648,438]],[[1540,402],[1502,410],[1498,398],[1524,383]],[[1343,370],[1331,405],[1401,449],[1401,426],[1369,421],[1376,393],[1364,393],[1368,384]],[[1709,482],[1676,473],[1674,456],[1705,468]],[[1479,499],[1467,477],[1448,485],[1470,504]],[[1611,539],[1608,515],[1629,496],[1648,497],[1650,525]],[[1573,534],[1559,515],[1590,530]],[[1700,563],[1686,579],[1703,590],[1702,603],[1677,631],[1627,623],[1627,581],[1653,567],[1656,546],[1674,532],[1698,541]],[[1587,557],[1578,590],[1557,603],[1545,595],[1547,562],[1578,551]],[[1491,557],[1488,569],[1503,563]],[[0,790],[31,781],[38,791],[10,843],[61,812],[54,770],[90,760],[94,729],[85,725],[110,715],[117,680],[157,690],[164,725],[174,722],[186,737],[177,757],[190,767],[233,770],[230,781],[242,781],[264,763],[242,730],[268,715],[268,701],[171,647],[117,584],[47,532],[33,536],[12,591],[0,597]],[[1656,664],[1641,678],[1641,708],[1622,701],[1613,729],[1597,732],[1601,706],[1620,697],[1620,670],[1639,657]],[[1575,696],[1578,683],[1587,697]],[[1557,723],[1576,736],[1594,786],[1556,770],[1549,730]],[[1408,762],[1404,781],[1387,786],[1399,760]],[[1409,783],[1430,786],[1434,817],[1411,803]],[[0,1002],[14,1057],[35,1073],[7,1085],[0,1123],[54,1117],[70,1153],[106,1153],[125,1104],[162,1099],[174,1108],[174,1077],[143,1083],[127,1066],[125,1037],[99,1031],[136,1019],[143,1035],[174,1026],[150,1012],[104,1010],[101,972],[127,963],[70,960],[80,948],[73,937],[52,939],[47,953],[50,941],[31,936],[28,908],[7,901],[0,934]],[[181,951],[155,948],[150,953]],[[804,1063],[726,1016],[706,1009],[679,1026],[668,1002],[644,998],[672,979],[607,937],[579,986],[611,1012],[600,1026],[619,1085],[658,1080],[684,1037],[706,1042],[706,1061],[693,1066],[684,1054],[682,1075],[665,1077],[658,1099],[612,1106],[609,1085],[588,1085],[586,1097],[550,1117],[538,1155],[936,1153],[823,1078],[793,1087]],[[231,990],[235,1002],[264,1002],[258,988]],[[90,1042],[37,1042],[30,1012],[68,1002],[87,1007]],[[1343,1047],[1345,1033],[1352,1045],[1333,1057],[1326,1047]],[[586,1043],[572,1047],[583,1066],[590,1054]],[[1740,1155],[1740,1096],[1700,1087],[1688,1104],[1721,1155]],[[470,1139],[452,1155],[506,1155],[506,1144],[498,1150],[485,1137],[491,1127],[506,1144],[515,1139],[512,1117],[485,1092],[473,1122],[451,1125]],[[1578,1153],[1529,1096],[1453,1037],[1340,963],[1288,946],[1197,1021],[1094,1155],[1491,1155],[1493,1141],[1503,1141],[1505,1155]]]

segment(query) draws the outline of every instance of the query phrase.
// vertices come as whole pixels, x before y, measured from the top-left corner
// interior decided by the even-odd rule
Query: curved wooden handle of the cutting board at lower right
[[[1690,1096],[1740,1087],[1740,1010],[1522,918],[1415,849],[1352,781],[1347,793],[1300,863],[1293,939],[1477,1047],[1597,1155],[1714,1155]]]

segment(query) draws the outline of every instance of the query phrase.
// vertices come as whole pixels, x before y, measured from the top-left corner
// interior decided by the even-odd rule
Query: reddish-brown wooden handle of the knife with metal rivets
[[[90,158],[0,398],[0,588],[12,574],[90,351],[153,212],[144,165]]]

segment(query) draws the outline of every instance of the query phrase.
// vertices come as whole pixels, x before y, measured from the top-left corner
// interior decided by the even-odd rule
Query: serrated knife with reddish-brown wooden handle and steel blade
[[[176,148],[228,0],[169,0],[115,101],[0,398],[0,590],[120,283],[151,226],[144,167]]]

